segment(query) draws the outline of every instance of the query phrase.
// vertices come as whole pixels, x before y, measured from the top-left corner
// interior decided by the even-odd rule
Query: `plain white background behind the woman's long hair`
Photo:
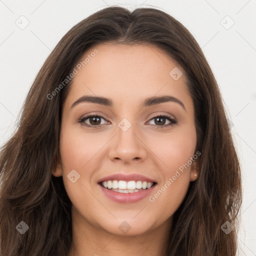
[[[201,46],[229,112],[242,165],[239,255],[256,255],[256,0],[0,0],[0,145],[15,130],[26,93],[60,38],[113,4],[159,8],[187,27]],[[227,15],[234,21],[229,29]],[[20,29],[15,22],[25,24],[25,19],[29,24]]]

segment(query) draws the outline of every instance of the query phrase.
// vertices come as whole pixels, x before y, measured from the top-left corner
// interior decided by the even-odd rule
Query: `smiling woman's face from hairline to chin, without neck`
[[[63,176],[72,216],[115,235],[170,223],[197,178],[184,71],[153,45],[98,44],[81,61],[63,105],[61,163],[53,171]],[[143,183],[150,188],[140,190]]]

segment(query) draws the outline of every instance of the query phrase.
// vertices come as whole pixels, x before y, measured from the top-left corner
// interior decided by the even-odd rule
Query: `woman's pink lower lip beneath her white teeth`
[[[152,192],[152,190],[156,187],[156,184],[151,186],[148,189],[140,190],[140,191],[133,192],[133,193],[119,193],[119,192],[115,192],[113,190],[104,188],[101,185],[99,185],[99,186],[102,189],[105,196],[107,196],[109,199],[116,201],[116,202],[129,203],[129,202],[137,202],[137,201],[142,200],[143,198],[149,196],[150,193]]]

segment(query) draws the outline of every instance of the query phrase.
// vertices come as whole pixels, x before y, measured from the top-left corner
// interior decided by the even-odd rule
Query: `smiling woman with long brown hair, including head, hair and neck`
[[[2,255],[236,253],[240,166],[197,42],[153,8],[72,27],[0,153]]]

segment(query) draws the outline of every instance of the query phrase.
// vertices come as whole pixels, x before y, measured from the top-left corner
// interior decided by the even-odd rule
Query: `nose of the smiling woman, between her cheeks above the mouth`
[[[112,161],[131,163],[146,158],[146,145],[133,127],[134,125],[131,125],[127,131],[117,127],[117,134],[113,137],[108,153]]]

